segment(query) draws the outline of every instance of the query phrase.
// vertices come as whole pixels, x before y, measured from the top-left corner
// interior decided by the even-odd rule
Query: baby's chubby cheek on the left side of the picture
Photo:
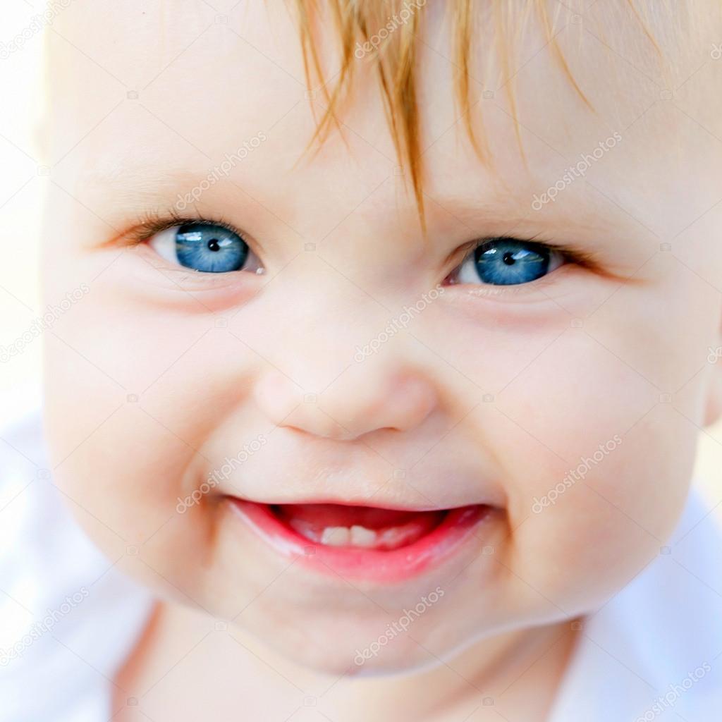
[[[167,578],[192,593],[213,551],[215,515],[180,514],[177,500],[203,479],[206,436],[243,404],[252,355],[206,310],[173,313],[123,297],[111,282],[132,271],[122,256],[107,269],[71,266],[62,284],[46,285],[48,303],[103,276],[45,336],[53,476],[110,560],[153,586]]]

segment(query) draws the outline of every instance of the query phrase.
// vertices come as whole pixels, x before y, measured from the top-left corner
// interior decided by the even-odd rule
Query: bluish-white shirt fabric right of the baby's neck
[[[722,533],[698,495],[581,633],[549,722],[722,720]]]

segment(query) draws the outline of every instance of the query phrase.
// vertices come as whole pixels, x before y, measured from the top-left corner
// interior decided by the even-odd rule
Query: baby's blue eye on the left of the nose
[[[248,243],[238,233],[208,222],[167,228],[149,245],[166,261],[204,273],[240,271],[249,256]]]

